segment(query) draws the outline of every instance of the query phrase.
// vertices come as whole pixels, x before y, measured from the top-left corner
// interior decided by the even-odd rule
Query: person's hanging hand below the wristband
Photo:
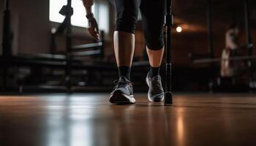
[[[99,27],[97,20],[94,17],[88,19],[88,31],[94,39],[99,41]]]

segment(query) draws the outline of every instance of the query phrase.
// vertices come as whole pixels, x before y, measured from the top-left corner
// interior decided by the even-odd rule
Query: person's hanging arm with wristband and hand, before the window
[[[94,39],[99,41],[99,28],[97,20],[91,12],[92,5],[94,5],[94,0],[83,0],[83,6],[86,8],[86,18],[88,19],[88,31]]]

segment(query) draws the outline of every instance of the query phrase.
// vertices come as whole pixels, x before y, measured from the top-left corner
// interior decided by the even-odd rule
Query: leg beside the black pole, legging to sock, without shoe
[[[154,9],[154,11],[152,11]],[[164,53],[163,26],[165,16],[165,0],[143,0],[140,5],[143,18],[146,50],[151,66],[149,75],[154,77],[159,74]]]

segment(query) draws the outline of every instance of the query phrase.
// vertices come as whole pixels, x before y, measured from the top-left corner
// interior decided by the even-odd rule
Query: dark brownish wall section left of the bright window
[[[13,53],[48,53],[48,1],[10,1]]]

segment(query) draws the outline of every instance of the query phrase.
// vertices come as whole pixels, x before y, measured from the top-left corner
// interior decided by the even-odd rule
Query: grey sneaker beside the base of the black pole
[[[162,88],[161,77],[159,75],[149,77],[149,74],[147,74],[146,82],[148,84],[148,100],[152,102],[164,100],[164,90]]]

